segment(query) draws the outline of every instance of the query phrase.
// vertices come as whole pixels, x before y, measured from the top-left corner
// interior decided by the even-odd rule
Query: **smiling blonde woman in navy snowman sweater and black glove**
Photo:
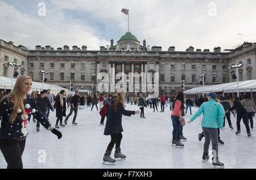
[[[27,95],[31,89],[30,76],[20,76],[13,91],[0,101],[0,149],[9,169],[22,169],[22,153],[28,135],[28,118],[31,114],[47,129],[61,138],[36,105],[34,98]]]

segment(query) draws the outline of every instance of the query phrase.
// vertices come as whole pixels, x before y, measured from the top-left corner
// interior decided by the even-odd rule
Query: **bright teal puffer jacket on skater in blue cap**
[[[213,99],[204,102],[199,110],[193,115],[191,121],[194,121],[199,115],[204,113],[202,127],[222,128],[225,111],[223,106]]]

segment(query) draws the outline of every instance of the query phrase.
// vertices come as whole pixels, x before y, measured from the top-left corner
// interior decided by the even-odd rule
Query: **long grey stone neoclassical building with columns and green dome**
[[[110,45],[100,46],[100,50],[88,50],[86,46],[69,49],[68,45],[57,50],[37,45],[35,50],[27,50],[22,45],[17,47],[0,40],[0,76],[11,76],[6,63],[14,59],[23,65],[17,70],[19,75],[30,75],[35,82],[42,82],[40,70],[44,70],[49,72],[47,83],[69,89],[69,79],[72,79],[72,89],[88,89],[93,93],[97,92],[96,86],[101,81],[97,79],[100,72],[109,76],[125,72],[127,79],[131,72],[156,72],[159,92],[168,96],[183,89],[181,80],[185,80],[185,90],[201,86],[201,74],[205,74],[204,85],[233,82],[232,74],[236,72],[228,67],[237,63],[244,65],[239,71],[240,81],[256,79],[256,43],[245,42],[225,52],[221,52],[220,47],[210,52],[209,49],[195,50],[192,46],[184,52],[175,51],[174,46],[163,51],[160,46],[150,48],[145,40],[141,44],[130,32],[117,44],[111,40]],[[115,83],[118,81],[116,79]]]

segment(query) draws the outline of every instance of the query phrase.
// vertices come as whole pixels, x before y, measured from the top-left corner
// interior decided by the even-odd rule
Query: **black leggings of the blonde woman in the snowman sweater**
[[[7,169],[23,169],[22,154],[25,140],[0,139],[0,149],[7,162]]]

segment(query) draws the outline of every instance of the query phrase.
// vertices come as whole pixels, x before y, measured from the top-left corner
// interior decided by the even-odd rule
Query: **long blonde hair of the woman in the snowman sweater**
[[[31,79],[30,76],[20,76],[14,85],[13,91],[7,95],[7,100],[10,104],[10,101],[13,101],[13,112],[10,115],[9,122],[13,124],[15,121],[17,115],[18,115],[18,109],[20,108],[22,110],[23,116],[25,115],[25,107],[23,104],[23,91],[22,91],[22,83],[26,79]]]

